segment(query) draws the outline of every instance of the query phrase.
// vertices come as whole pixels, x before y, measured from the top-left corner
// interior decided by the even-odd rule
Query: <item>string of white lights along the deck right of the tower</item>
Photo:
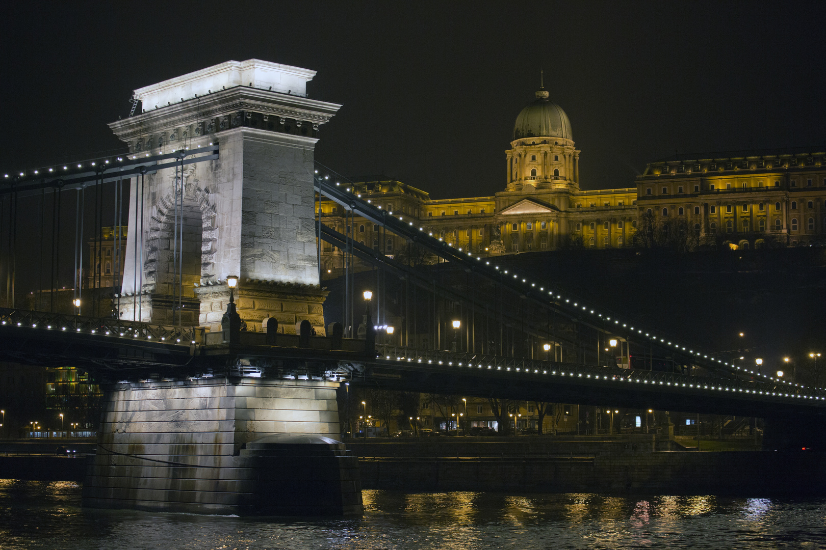
[[[396,363],[411,363],[415,362],[417,364],[439,364],[445,365],[444,360],[433,360],[433,359],[426,359],[423,357],[405,357],[405,356],[396,356],[396,359],[393,360],[391,355],[385,355],[385,360],[396,362]],[[447,366],[453,366],[453,361],[447,361]],[[522,369],[520,367],[506,367],[502,369],[501,366],[497,366],[494,369],[493,365],[488,364],[472,364],[467,363],[463,364],[462,361],[458,361],[455,364],[456,367],[466,367],[468,369],[484,369],[490,371],[499,371],[499,372],[510,372],[512,374],[522,373],[522,374],[541,374],[544,376],[559,376],[561,378],[582,378],[582,380],[590,379],[591,382],[620,382],[620,383],[643,383],[643,384],[650,384],[652,386],[664,386],[664,387],[672,387],[672,388],[691,388],[697,390],[708,390],[711,392],[731,392],[731,393],[748,393],[753,396],[762,396],[762,397],[791,397],[793,399],[814,399],[815,401],[826,401],[826,397],[821,397],[817,395],[808,395],[808,394],[800,394],[800,393],[782,393],[782,392],[769,392],[757,389],[743,389],[743,388],[731,388],[730,386],[720,385],[719,383],[679,383],[679,382],[671,382],[671,381],[663,381],[663,380],[648,380],[647,378],[632,378],[632,376],[622,377],[616,374],[612,374],[610,377],[607,375],[600,376],[599,374],[586,374],[586,376],[582,376],[582,373],[573,373],[570,370],[565,371],[563,369]]]

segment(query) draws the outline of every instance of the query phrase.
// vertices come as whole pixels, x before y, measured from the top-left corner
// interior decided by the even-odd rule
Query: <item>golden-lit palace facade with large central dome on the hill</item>
[[[710,154],[651,162],[635,187],[582,190],[571,122],[561,107],[536,98],[516,118],[506,151],[506,186],[493,196],[432,200],[424,190],[388,178],[347,183],[354,193],[480,256],[565,247],[646,246],[647,231],[673,231],[695,245],[795,246],[826,233],[824,153],[808,150]],[[322,200],[323,221],[350,229],[338,204]],[[402,239],[354,219],[356,242],[396,255]],[[639,236],[642,237],[641,235]],[[656,238],[654,239],[657,240]],[[343,266],[325,244],[322,266]]]

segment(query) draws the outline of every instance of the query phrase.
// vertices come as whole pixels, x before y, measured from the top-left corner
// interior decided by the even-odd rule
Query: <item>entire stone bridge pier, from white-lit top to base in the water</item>
[[[232,348],[243,339],[227,343],[216,331],[235,275],[245,336],[272,337],[260,333],[262,320],[274,318],[275,336],[296,339],[292,346],[303,321],[324,338],[313,149],[339,106],[306,96],[314,75],[249,59],[135,91],[140,114],[110,125],[133,157],[210,145],[219,157],[131,181],[121,318],[203,327],[205,338]],[[336,378],[323,370],[303,379],[245,376],[241,351],[109,384],[84,505],[360,513],[358,462],[337,441]]]

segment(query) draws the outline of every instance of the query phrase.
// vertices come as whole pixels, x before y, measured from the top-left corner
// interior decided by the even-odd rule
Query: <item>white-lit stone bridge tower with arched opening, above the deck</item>
[[[249,331],[275,317],[324,334],[313,153],[340,106],[306,96],[315,74],[248,59],[135,90],[140,114],[110,125],[132,156],[215,144],[219,157],[131,181],[121,318],[220,330],[238,275]]]

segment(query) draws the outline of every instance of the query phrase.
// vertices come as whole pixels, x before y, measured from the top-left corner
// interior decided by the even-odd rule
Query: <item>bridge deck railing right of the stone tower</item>
[[[653,386],[696,388],[713,392],[748,393],[767,397],[794,397],[826,401],[826,392],[815,388],[795,388],[794,386],[764,383],[739,378],[713,378],[687,374],[666,373],[650,370],[620,369],[591,364],[560,363],[556,361],[520,359],[500,355],[481,355],[447,350],[417,350],[399,346],[377,345],[379,360],[394,363],[416,363],[444,366],[447,368],[470,368],[506,371],[513,374],[546,374],[583,381],[614,380],[626,383],[641,383]]]

